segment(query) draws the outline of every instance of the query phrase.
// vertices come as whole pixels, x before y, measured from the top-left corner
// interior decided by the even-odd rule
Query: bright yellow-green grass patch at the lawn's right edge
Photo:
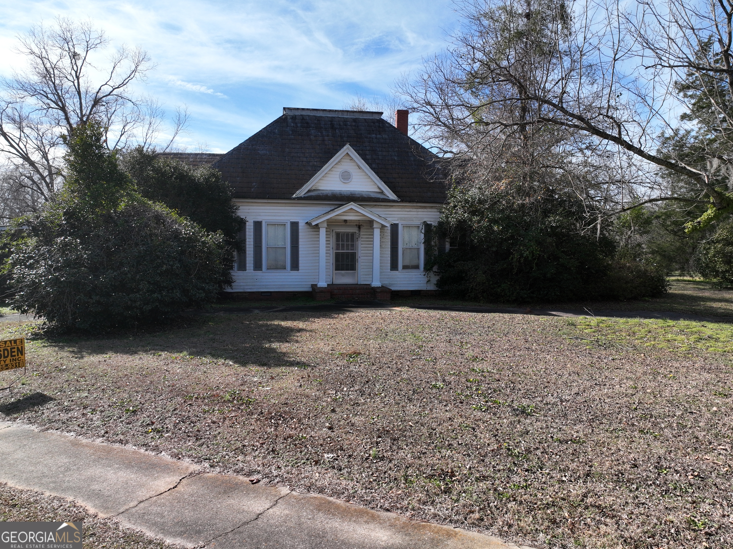
[[[576,325],[586,338],[600,343],[655,347],[679,353],[691,350],[733,353],[733,324],[581,317]]]

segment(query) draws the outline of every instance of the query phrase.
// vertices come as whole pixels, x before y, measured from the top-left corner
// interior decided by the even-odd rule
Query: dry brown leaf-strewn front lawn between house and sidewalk
[[[664,349],[529,315],[202,316],[36,336],[0,411],[538,548],[728,548],[733,369],[704,342],[730,328]]]

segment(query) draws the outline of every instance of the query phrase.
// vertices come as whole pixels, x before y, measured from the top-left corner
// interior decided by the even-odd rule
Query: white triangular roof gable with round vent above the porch
[[[349,144],[337,152],[292,198],[342,196],[399,201]]]

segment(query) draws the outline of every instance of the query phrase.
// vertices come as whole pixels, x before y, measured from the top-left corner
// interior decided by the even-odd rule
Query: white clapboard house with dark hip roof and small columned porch
[[[248,298],[432,292],[426,234],[446,199],[441,163],[380,112],[284,108],[213,167],[246,220],[230,289]]]

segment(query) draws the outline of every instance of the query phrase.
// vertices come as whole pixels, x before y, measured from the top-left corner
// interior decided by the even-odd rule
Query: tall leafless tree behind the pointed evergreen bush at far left
[[[75,126],[97,120],[111,149],[150,146],[161,132],[160,104],[131,89],[152,68],[150,58],[124,46],[104,56],[108,45],[91,23],[64,18],[20,38],[17,51],[27,66],[0,82],[0,155],[12,196],[24,190],[32,210],[62,184],[61,136]],[[185,111],[177,112],[173,139],[186,119]]]

